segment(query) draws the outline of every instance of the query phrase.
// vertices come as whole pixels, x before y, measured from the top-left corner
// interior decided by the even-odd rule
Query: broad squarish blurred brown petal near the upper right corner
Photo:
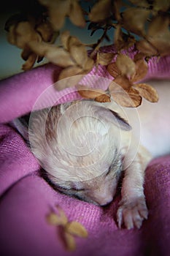
[[[150,15],[150,10],[130,7],[123,12],[123,27],[139,36],[144,36],[144,24]]]

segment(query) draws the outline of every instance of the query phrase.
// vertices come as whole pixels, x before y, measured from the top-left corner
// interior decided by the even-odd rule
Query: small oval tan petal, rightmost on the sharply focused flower
[[[135,85],[135,89],[139,91],[139,94],[150,102],[158,102],[158,93],[150,85],[146,83],[139,83]]]

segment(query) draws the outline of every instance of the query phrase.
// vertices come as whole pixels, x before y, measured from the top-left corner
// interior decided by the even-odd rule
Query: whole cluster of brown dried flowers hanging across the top
[[[31,13],[27,14],[24,12],[12,15],[5,26],[8,41],[23,50],[21,57],[26,61],[23,70],[31,69],[35,62],[42,61],[45,57],[63,68],[58,78],[61,80],[87,74],[94,66],[98,67],[100,64],[107,66],[107,71],[115,78],[115,83],[125,89],[125,94],[122,91],[118,93],[117,89],[116,92],[113,90],[114,83],[110,86],[112,95],[114,94],[115,100],[117,98],[121,105],[140,105],[141,97],[151,102],[158,100],[158,95],[150,86],[144,83],[136,86],[136,82],[147,74],[147,63],[144,59],[170,53],[169,1],[95,0],[88,1],[89,12],[82,9],[79,0],[38,1],[39,15],[34,15],[35,10],[30,10]],[[91,35],[98,30],[102,31],[102,34],[93,44],[85,45],[69,31],[62,30],[65,18],[69,18],[74,26],[81,28],[88,23]],[[61,45],[54,44],[58,34]],[[101,50],[104,40],[115,45],[114,53],[104,53]],[[132,46],[134,50],[138,50],[134,60],[122,54],[123,50]],[[117,59],[112,63],[115,56]],[[64,83],[60,89],[66,87],[69,87],[69,83]],[[110,100],[108,92],[103,91],[95,95],[89,88],[79,92],[84,97],[93,98],[98,102]],[[134,103],[128,102],[125,95],[131,97]]]

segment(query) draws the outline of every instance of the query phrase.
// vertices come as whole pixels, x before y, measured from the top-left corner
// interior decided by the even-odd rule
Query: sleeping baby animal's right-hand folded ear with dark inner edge
[[[107,122],[115,124],[116,127],[120,127],[125,131],[131,130],[131,125],[128,124],[124,118],[122,118],[117,112],[110,110],[104,107],[96,107],[98,108],[98,115],[101,117],[101,120],[104,119]]]

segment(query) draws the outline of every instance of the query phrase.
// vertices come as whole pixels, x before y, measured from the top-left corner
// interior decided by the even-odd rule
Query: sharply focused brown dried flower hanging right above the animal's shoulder
[[[123,107],[138,107],[142,103],[142,97],[150,102],[158,102],[158,94],[152,86],[146,83],[136,84],[147,74],[147,62],[137,54],[134,61],[128,56],[120,54],[115,63],[109,64],[108,72],[115,77],[109,85],[109,93],[117,104]],[[118,86],[117,86],[118,85]]]

